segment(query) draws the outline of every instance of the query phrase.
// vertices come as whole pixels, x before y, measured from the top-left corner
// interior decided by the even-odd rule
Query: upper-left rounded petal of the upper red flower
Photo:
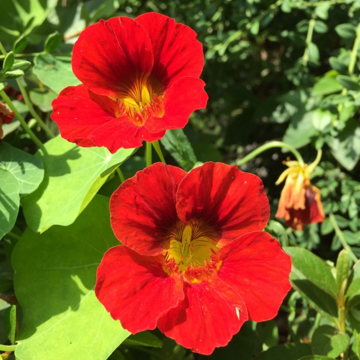
[[[88,26],[73,48],[73,72],[100,95],[116,97],[124,82],[146,78],[152,67],[148,34],[138,22],[123,16]]]

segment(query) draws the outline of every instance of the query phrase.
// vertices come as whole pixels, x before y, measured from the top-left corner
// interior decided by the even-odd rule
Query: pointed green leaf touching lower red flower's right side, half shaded
[[[291,255],[290,282],[315,309],[337,316],[337,285],[329,265],[311,251],[300,247],[285,247]]]

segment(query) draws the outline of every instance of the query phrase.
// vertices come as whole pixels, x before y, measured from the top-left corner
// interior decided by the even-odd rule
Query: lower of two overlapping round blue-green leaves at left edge
[[[0,167],[0,239],[15,225],[20,205],[19,191],[16,177]]]

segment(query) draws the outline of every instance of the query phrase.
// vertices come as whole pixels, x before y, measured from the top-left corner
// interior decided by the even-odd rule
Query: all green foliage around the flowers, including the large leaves
[[[186,171],[197,162],[233,164],[269,140],[293,145],[308,162],[323,149],[312,181],[327,218],[304,231],[274,220],[274,183],[289,154],[271,149],[240,167],[264,181],[267,230],[292,255],[293,290],[274,320],[246,323],[210,358],[360,359],[359,0],[1,1],[0,41],[14,55],[0,57],[0,90],[10,86],[15,109],[45,145],[38,149],[18,117],[3,126],[0,343],[17,341],[10,358],[21,360],[204,358],[157,330],[127,338],[95,301],[96,266],[116,244],[107,207],[121,182],[116,168],[134,175],[145,166],[144,149],[79,148],[50,139],[36,121],[58,134],[51,101],[79,83],[71,51],[87,25],[148,11],[192,27],[205,54],[207,108],[184,131],[166,133],[167,163]],[[342,305],[346,329],[337,324]]]

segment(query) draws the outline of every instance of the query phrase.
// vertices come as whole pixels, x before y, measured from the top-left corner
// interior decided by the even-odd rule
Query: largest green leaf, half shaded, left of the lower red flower
[[[105,360],[129,336],[94,293],[102,256],[118,244],[109,198],[101,195],[66,228],[24,232],[12,255],[15,294],[23,310],[17,359]]]

